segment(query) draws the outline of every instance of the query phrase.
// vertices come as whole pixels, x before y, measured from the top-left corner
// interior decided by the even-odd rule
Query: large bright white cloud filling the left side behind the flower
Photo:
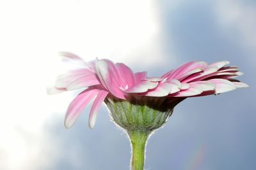
[[[44,169],[60,158],[61,141],[44,129],[54,112],[63,118],[72,99],[72,92],[45,91],[60,72],[59,51],[163,64],[157,17],[148,0],[1,1],[0,169]]]

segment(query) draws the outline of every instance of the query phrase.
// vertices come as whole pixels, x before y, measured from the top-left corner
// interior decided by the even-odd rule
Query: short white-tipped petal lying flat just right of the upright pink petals
[[[127,90],[124,90],[124,92],[127,93],[142,93],[147,92],[147,90],[154,89],[158,85],[158,82],[152,82],[147,80],[142,80],[139,83],[136,83],[132,87],[130,87]]]

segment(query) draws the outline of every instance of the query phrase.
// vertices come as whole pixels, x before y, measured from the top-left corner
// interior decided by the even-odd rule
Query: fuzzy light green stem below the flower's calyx
[[[128,131],[131,139],[132,157],[131,170],[143,170],[145,162],[145,146],[150,134],[148,131]]]

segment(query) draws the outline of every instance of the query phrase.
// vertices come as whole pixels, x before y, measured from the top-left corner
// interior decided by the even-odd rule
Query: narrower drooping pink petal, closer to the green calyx
[[[92,108],[90,111],[90,116],[89,116],[89,127],[92,129],[95,125],[96,118],[97,118],[97,113],[99,111],[100,105],[104,101],[105,97],[108,96],[108,91],[106,90],[100,90],[99,94],[95,98],[92,104]]]

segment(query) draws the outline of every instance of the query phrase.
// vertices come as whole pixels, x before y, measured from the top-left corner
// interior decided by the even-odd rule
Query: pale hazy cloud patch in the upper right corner
[[[250,50],[256,49],[256,10],[255,6],[244,1],[216,1],[216,18],[225,31],[235,31],[241,45]]]

